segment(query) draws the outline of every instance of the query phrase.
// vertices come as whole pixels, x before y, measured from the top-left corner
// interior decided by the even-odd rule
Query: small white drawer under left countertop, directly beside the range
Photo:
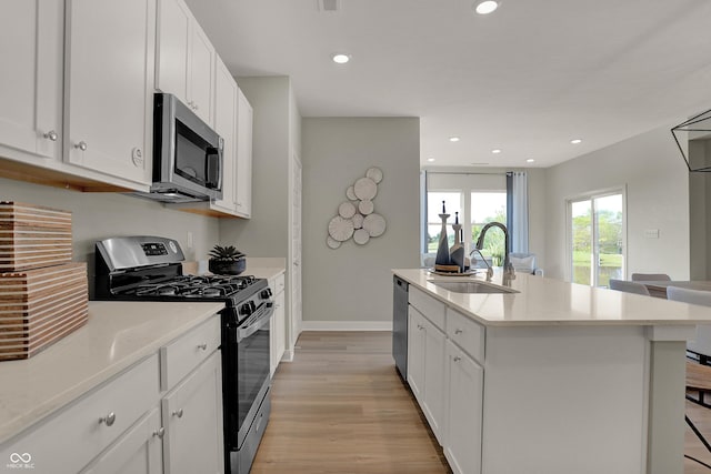
[[[220,316],[208,321],[160,349],[161,390],[172,389],[220,346]]]

